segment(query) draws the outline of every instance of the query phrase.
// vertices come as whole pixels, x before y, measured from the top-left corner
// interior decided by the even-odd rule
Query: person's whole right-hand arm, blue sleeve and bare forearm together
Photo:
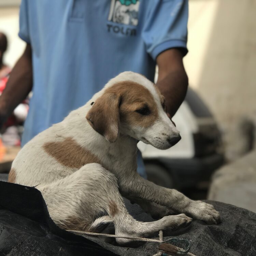
[[[147,53],[157,62],[157,86],[166,98],[172,117],[185,98],[188,78],[183,66],[187,54],[188,1],[152,1],[147,10],[142,38]]]

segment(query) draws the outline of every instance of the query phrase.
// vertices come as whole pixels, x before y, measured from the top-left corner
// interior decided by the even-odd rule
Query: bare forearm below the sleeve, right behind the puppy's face
[[[156,85],[165,97],[169,117],[173,117],[183,102],[188,87],[183,55],[177,48],[168,49],[157,56],[156,62],[158,65]]]

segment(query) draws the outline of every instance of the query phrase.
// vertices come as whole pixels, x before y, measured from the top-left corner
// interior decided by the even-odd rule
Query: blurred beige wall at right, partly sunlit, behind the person
[[[256,116],[256,1],[190,0],[190,85],[224,131]]]

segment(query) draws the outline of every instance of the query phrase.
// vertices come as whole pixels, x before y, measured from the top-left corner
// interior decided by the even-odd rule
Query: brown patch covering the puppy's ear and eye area
[[[160,93],[157,87],[156,89]],[[136,112],[145,105],[150,109],[149,115]],[[108,141],[114,142],[118,137],[119,122],[147,128],[158,118],[158,109],[147,88],[136,82],[123,81],[107,88],[94,103],[86,118],[97,132]]]

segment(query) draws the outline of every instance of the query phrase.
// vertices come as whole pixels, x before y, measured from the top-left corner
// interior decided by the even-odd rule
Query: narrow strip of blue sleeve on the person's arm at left
[[[28,1],[22,0],[19,9],[19,37],[26,43],[30,43]]]

